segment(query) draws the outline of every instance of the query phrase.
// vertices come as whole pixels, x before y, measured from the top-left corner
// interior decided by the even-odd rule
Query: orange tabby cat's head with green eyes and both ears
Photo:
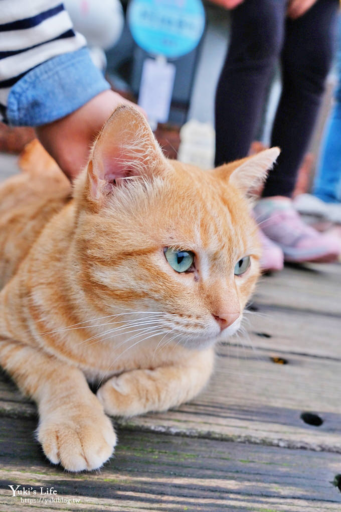
[[[146,312],[189,347],[236,332],[260,273],[248,195],[278,154],[204,171],[167,160],[144,117],[118,108],[75,187],[87,300],[104,315]]]

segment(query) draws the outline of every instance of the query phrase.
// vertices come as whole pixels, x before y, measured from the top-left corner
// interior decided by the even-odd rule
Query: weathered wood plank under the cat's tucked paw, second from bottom
[[[167,413],[118,420],[132,430],[309,448],[341,453],[341,361],[291,354],[288,364],[273,352],[219,347],[208,388],[195,400]],[[13,385],[0,388],[3,414],[19,417],[24,401]],[[35,415],[25,403],[24,416]],[[301,413],[320,415],[321,426]]]

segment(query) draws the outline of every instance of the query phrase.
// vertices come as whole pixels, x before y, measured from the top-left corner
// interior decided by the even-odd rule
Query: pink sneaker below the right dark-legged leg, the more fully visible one
[[[307,226],[290,199],[261,199],[254,211],[263,233],[283,250],[285,261],[329,263],[338,259],[340,241]]]

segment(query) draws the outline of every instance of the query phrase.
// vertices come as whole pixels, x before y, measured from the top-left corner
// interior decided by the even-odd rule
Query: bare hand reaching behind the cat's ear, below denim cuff
[[[80,173],[104,122],[121,103],[132,104],[113,91],[103,91],[68,116],[36,128],[38,139],[67,177]]]

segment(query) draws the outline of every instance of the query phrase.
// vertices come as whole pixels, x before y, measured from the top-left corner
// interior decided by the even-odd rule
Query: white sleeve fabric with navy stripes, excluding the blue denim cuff
[[[65,54],[72,55],[85,46],[84,36],[74,31],[62,3],[53,0],[0,0],[2,120],[7,121],[9,95],[15,84],[44,62]],[[63,66],[65,68],[65,59]]]

